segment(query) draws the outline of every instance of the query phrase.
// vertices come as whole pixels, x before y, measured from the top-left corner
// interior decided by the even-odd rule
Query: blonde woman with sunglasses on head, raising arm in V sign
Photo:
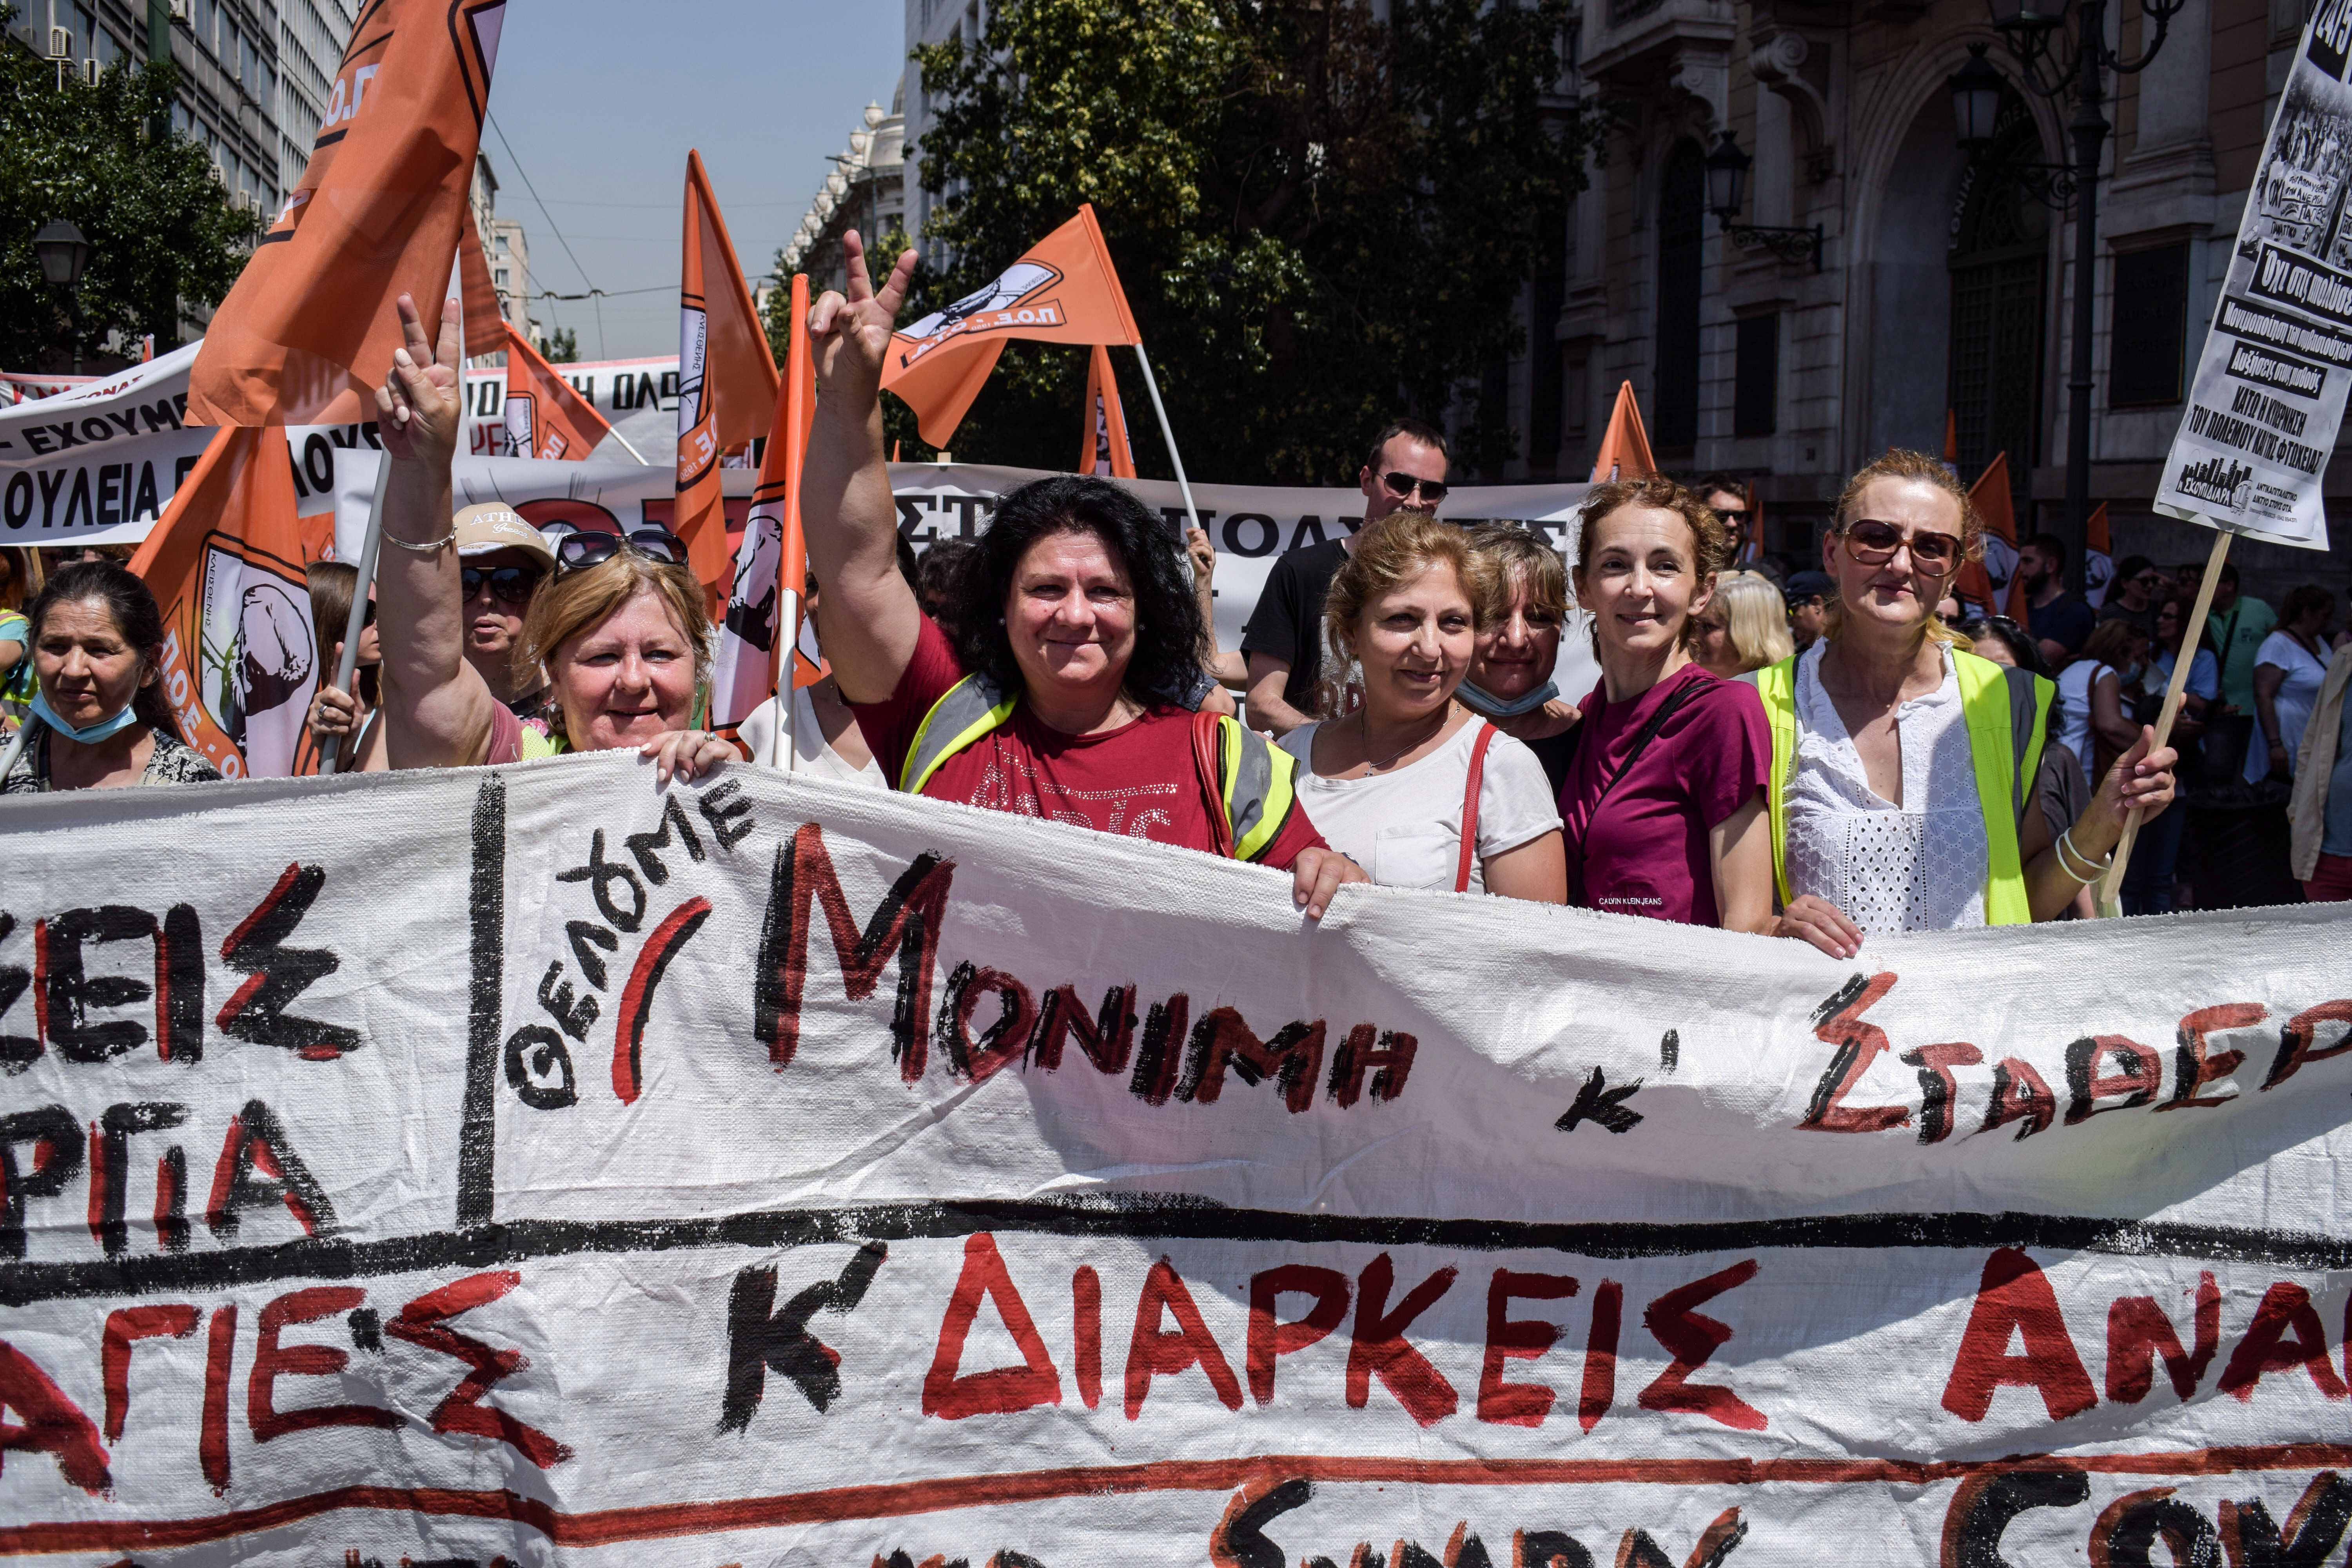
[[[652,757],[668,783],[734,759],[727,741],[691,726],[710,621],[684,545],[666,529],[562,541],[557,576],[529,595],[510,654],[517,684],[527,670],[546,670],[546,719],[520,719],[466,658],[466,567],[454,548],[459,527],[447,522],[461,421],[456,301],[442,308],[437,346],[426,341],[407,294],[400,324],[407,343],[376,388],[376,423],[393,463],[376,559],[390,764],[501,764],[626,748]],[[527,550],[520,538],[515,548]],[[494,581],[482,585],[496,592]]]

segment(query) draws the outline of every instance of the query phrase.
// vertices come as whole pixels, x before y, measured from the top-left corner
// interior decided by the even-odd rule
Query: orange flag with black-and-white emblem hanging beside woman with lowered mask
[[[285,440],[216,433],[132,571],[162,604],[162,689],[188,745],[228,778],[315,771],[303,719],[322,649]]]

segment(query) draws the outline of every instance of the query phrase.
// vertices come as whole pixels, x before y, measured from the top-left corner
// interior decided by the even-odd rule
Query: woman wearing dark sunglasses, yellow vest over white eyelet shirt
[[[2173,752],[2143,729],[2051,837],[2051,682],[1978,658],[1933,616],[1976,543],[1969,491],[1926,454],[1846,482],[1820,545],[1837,585],[1823,639],[1757,672],[1778,936],[1851,959],[1867,933],[2056,919],[2105,875],[2126,813],[2171,804]]]

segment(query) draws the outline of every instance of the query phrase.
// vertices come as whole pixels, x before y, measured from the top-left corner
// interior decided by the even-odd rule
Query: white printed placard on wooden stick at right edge
[[[2237,223],[2190,407],[2154,508],[2225,534],[2328,548],[2321,496],[2352,386],[2352,5],[2303,28]]]

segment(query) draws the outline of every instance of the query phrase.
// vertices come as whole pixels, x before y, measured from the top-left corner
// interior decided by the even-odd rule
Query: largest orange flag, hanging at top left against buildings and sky
[[[506,2],[367,0],[310,165],[205,331],[191,425],[374,418],[414,294],[449,284]]]

